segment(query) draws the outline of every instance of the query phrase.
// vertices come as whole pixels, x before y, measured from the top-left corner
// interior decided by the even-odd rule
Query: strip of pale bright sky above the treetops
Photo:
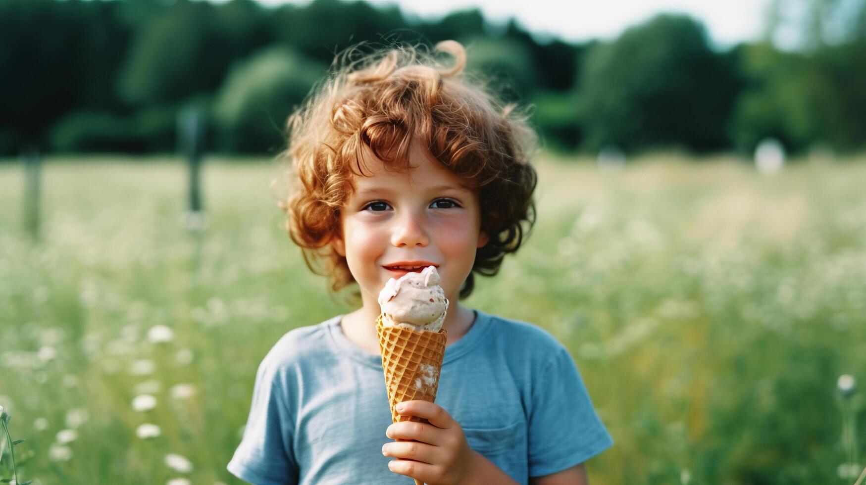
[[[259,3],[307,3],[296,0],[258,0]],[[565,41],[611,40],[624,29],[661,12],[686,13],[707,27],[717,47],[751,41],[761,35],[768,0],[374,0],[397,3],[408,17],[441,18],[454,10],[478,7],[488,22],[517,23],[542,40],[555,36]]]

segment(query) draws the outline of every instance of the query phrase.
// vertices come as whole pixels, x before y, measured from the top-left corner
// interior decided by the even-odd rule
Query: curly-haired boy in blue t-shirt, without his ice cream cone
[[[262,360],[228,465],[247,482],[577,485],[613,443],[565,346],[459,303],[533,225],[533,136],[463,79],[459,43],[436,50],[454,67],[400,47],[338,68],[289,120],[289,234],[334,291],[357,284],[361,307]],[[377,297],[430,265],[451,302],[439,391],[398,409],[429,423],[391,424]]]

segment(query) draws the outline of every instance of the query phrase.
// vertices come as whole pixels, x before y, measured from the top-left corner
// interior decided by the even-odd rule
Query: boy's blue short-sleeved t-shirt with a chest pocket
[[[470,448],[527,483],[613,444],[565,346],[536,325],[475,312],[445,347],[436,393]],[[262,360],[232,474],[257,485],[410,480],[382,455],[393,440],[381,357],[346,338],[341,316],[286,333]]]

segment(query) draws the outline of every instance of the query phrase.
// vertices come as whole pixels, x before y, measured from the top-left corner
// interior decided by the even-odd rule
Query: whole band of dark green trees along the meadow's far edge
[[[787,1],[823,9],[800,25],[798,48],[771,42],[772,16],[764,38],[718,49],[682,15],[571,43],[488,23],[479,10],[428,21],[338,0],[0,0],[0,155],[171,152],[184,107],[204,114],[209,151],[274,154],[334,54],[361,41],[444,39],[462,42],[468,70],[507,100],[533,106],[547,148],[750,151],[766,137],[792,152],[863,148],[866,0],[844,11]],[[839,24],[832,16],[848,22],[822,29]]]

